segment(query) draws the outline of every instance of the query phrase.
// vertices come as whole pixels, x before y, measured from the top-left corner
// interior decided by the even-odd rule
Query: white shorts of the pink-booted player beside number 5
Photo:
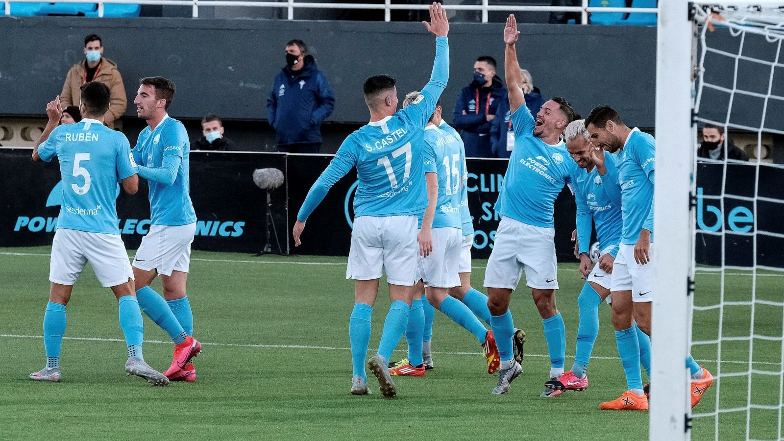
[[[196,234],[196,222],[186,225],[151,225],[142,238],[133,266],[143,271],[172,275],[173,271],[188,272],[191,266],[191,242]]]

